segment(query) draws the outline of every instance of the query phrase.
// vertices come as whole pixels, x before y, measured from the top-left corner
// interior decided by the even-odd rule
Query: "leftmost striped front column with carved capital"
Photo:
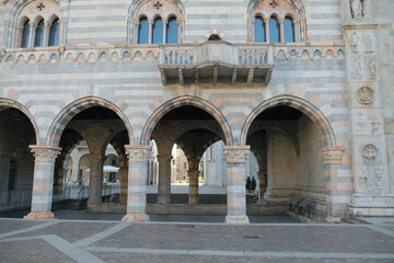
[[[55,160],[61,148],[50,146],[30,146],[34,153],[34,180],[32,211],[25,219],[53,219],[50,211],[53,201]]]

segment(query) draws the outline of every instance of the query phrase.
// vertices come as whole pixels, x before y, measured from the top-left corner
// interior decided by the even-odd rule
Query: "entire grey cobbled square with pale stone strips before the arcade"
[[[393,263],[394,218],[355,224],[0,219],[0,262]]]

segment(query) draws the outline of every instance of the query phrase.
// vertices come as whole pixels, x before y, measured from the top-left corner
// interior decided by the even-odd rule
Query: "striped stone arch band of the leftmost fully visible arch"
[[[72,102],[56,116],[46,136],[46,145],[57,147],[60,142],[61,134],[65,130],[67,124],[77,114],[93,106],[102,106],[115,112],[126,126],[130,145],[134,144],[134,134],[132,134],[131,125],[128,118],[126,117],[126,115],[123,113],[123,111],[112,102],[106,101],[102,98],[86,96]]]

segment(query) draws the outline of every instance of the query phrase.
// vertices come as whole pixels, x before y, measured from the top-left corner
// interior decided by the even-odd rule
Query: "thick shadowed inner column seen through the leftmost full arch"
[[[90,161],[88,210],[90,210],[93,206],[102,204],[103,156],[91,153],[88,159]]]

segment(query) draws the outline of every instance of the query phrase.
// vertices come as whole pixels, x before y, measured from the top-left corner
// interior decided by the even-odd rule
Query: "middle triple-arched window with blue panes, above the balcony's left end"
[[[130,8],[128,42],[134,44],[176,44],[183,39],[181,1],[140,0]]]

